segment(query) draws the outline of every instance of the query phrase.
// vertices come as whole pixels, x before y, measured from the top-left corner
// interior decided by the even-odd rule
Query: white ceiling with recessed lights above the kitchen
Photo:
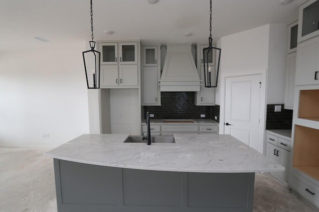
[[[267,23],[298,18],[294,0],[213,0],[214,41]],[[93,0],[95,40],[143,43],[206,43],[209,0]],[[1,0],[0,51],[72,45],[91,39],[89,0]],[[113,30],[108,35],[105,30]],[[193,35],[185,37],[185,32]],[[42,36],[44,43],[33,37]]]

